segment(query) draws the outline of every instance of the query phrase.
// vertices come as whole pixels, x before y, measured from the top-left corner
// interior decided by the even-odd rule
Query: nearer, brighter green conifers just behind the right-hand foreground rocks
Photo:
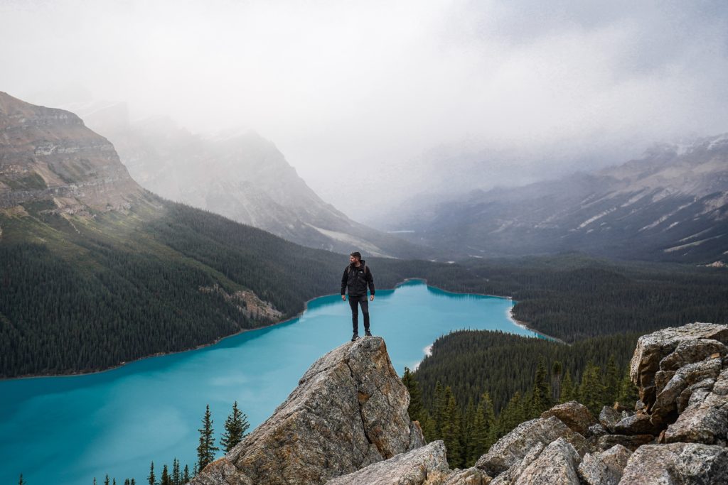
[[[628,367],[620,371],[614,356],[604,367],[587,361],[580,380],[574,379],[561,361],[553,361],[549,368],[545,356],[534,358],[537,363],[529,388],[515,391],[499,410],[487,391],[459,401],[451,386],[461,384],[456,378],[446,381],[447,385],[438,380],[427,399],[419,371],[405,369],[402,381],[410,393],[410,417],[419,421],[427,441],[444,441],[451,468],[471,467],[499,438],[555,404],[579,401],[597,416],[602,406],[633,407],[638,398]]]

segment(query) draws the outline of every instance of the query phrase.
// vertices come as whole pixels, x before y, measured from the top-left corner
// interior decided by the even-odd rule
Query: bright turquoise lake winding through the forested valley
[[[510,320],[511,305],[408,281],[377,292],[371,329],[384,337],[401,375],[451,330],[534,336]],[[0,484],[17,484],[20,473],[30,485],[91,485],[94,477],[102,484],[108,473],[119,485],[132,477],[141,485],[150,461],[159,478],[162,464],[171,471],[174,457],[191,470],[206,404],[216,442],[234,401],[253,430],[317,358],[349,341],[350,315],[349,304],[331,295],[312,300],[303,315],[284,324],[207,348],[98,374],[0,381]]]

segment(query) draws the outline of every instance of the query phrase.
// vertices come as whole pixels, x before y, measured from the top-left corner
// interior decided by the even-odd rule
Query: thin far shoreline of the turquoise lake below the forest
[[[443,288],[440,288],[439,286],[435,286],[435,285],[432,285],[432,284],[427,283],[427,279],[425,279],[425,278],[405,278],[402,281],[400,281],[399,283],[395,284],[395,286],[393,286],[392,288],[387,288],[387,290],[391,289],[392,291],[394,291],[395,289],[397,289],[398,286],[402,286],[403,284],[407,284],[410,281],[422,281],[422,282],[424,282],[424,284],[427,284],[427,286],[430,286],[432,288],[438,289],[441,292],[446,292],[446,293],[450,293],[450,294],[473,294],[473,295],[482,296],[482,297],[494,297],[494,298],[503,298],[505,300],[513,300],[513,297],[502,296],[502,295],[498,295],[498,294],[452,292],[452,291],[450,291],[448,289],[443,289]],[[338,294],[336,294],[336,293],[323,294],[323,295],[320,295],[320,296],[317,296],[317,297],[313,297],[313,298],[311,298],[309,300],[306,300],[304,302],[304,309],[303,310],[301,310],[300,312],[298,312],[295,316],[292,316],[290,318],[286,318],[285,320],[277,321],[277,322],[274,322],[272,324],[267,324],[267,325],[263,325],[263,326],[257,326],[254,329],[242,329],[242,330],[240,330],[240,332],[235,332],[234,334],[229,334],[229,335],[226,335],[224,337],[220,337],[220,338],[216,339],[213,342],[208,342],[208,343],[205,343],[205,344],[200,344],[200,345],[197,345],[197,347],[194,347],[194,348],[187,348],[187,349],[184,349],[184,350],[177,350],[175,352],[158,352],[158,353],[153,353],[153,354],[151,354],[149,356],[143,356],[143,357],[140,357],[140,358],[135,358],[134,360],[131,360],[131,361],[124,361],[124,362],[122,362],[122,363],[120,363],[120,364],[118,364],[116,366],[111,366],[111,367],[107,367],[106,369],[100,369],[100,370],[95,370],[95,371],[90,371],[90,372],[68,372],[68,373],[64,373],[64,374],[26,374],[26,375],[17,376],[17,377],[0,377],[0,382],[4,382],[4,381],[8,381],[8,380],[21,380],[21,379],[23,379],[23,380],[25,380],[25,379],[43,379],[44,377],[79,377],[79,376],[84,376],[84,375],[101,374],[103,372],[111,372],[111,371],[114,371],[116,369],[120,369],[123,366],[126,366],[127,364],[133,364],[134,362],[143,361],[143,360],[145,360],[147,358],[155,358],[155,357],[163,357],[163,356],[173,356],[175,354],[180,354],[180,353],[194,352],[194,350],[201,350],[203,348],[207,348],[207,347],[211,347],[213,345],[217,345],[218,343],[222,342],[223,340],[226,340],[226,339],[229,339],[229,338],[232,338],[232,337],[237,337],[238,335],[244,334],[245,332],[253,332],[255,330],[268,329],[268,328],[272,328],[272,327],[277,326],[277,325],[286,324],[286,323],[288,323],[290,321],[295,320],[296,318],[301,318],[301,316],[303,316],[303,314],[306,313],[306,310],[308,310],[309,303],[310,302],[312,302],[313,300],[317,300],[319,298],[331,297],[331,296],[334,296],[334,295],[338,295]],[[561,343],[565,343],[565,342],[563,342],[563,340],[557,339],[555,337],[551,337],[550,335],[546,335],[546,334],[542,334],[540,332],[537,332],[536,330],[531,329],[524,322],[518,321],[515,318],[513,318],[513,307],[511,307],[510,310],[509,310],[509,317],[508,318],[510,318],[510,320],[513,321],[513,323],[516,326],[519,326],[522,329],[529,330],[529,332],[534,332],[534,333],[539,334],[542,337],[545,337],[545,338],[548,338],[548,339],[552,339],[552,340],[556,340],[556,341],[561,342]],[[430,346],[430,348],[431,347],[432,346]],[[424,358],[423,358],[423,360],[424,360]],[[419,366],[419,363],[418,363],[418,366]]]

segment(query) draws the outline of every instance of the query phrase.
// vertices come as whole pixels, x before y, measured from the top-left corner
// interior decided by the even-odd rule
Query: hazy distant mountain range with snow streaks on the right
[[[519,188],[472,191],[401,220],[410,241],[459,257],[581,251],[728,262],[728,135]]]

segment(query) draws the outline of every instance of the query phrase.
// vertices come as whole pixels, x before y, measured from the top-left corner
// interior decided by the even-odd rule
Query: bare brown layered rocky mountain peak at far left
[[[0,92],[0,208],[125,209],[143,197],[114,146],[74,113]]]

